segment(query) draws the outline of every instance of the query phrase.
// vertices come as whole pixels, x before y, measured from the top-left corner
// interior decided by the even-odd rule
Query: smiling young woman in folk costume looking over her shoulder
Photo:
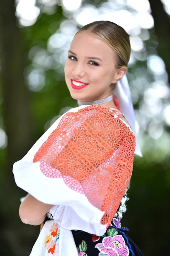
[[[142,156],[125,76],[129,58],[127,33],[109,21],[82,27],[71,42],[65,81],[79,107],[13,168],[28,192],[21,220],[45,222],[31,256],[143,255],[120,223],[134,154]]]

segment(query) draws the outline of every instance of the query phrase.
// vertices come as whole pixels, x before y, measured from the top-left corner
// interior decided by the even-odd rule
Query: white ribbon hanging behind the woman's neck
[[[139,124],[135,119],[134,108],[130,93],[130,87],[127,81],[127,76],[123,76],[117,83],[115,88],[113,89],[113,94],[116,95],[117,99],[119,100],[120,111],[124,114],[127,122],[130,124],[135,137],[136,137],[136,148],[135,154],[142,157],[141,148],[139,145]]]

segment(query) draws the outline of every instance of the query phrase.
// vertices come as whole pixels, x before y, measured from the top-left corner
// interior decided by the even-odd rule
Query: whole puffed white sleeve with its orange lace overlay
[[[105,233],[130,181],[135,136],[108,108],[71,109],[14,163],[17,186],[65,229]]]

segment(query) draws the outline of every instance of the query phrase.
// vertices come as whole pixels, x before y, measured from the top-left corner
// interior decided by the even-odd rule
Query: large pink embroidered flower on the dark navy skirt
[[[129,249],[122,236],[104,237],[102,243],[96,244],[100,251],[99,256],[128,256]]]

